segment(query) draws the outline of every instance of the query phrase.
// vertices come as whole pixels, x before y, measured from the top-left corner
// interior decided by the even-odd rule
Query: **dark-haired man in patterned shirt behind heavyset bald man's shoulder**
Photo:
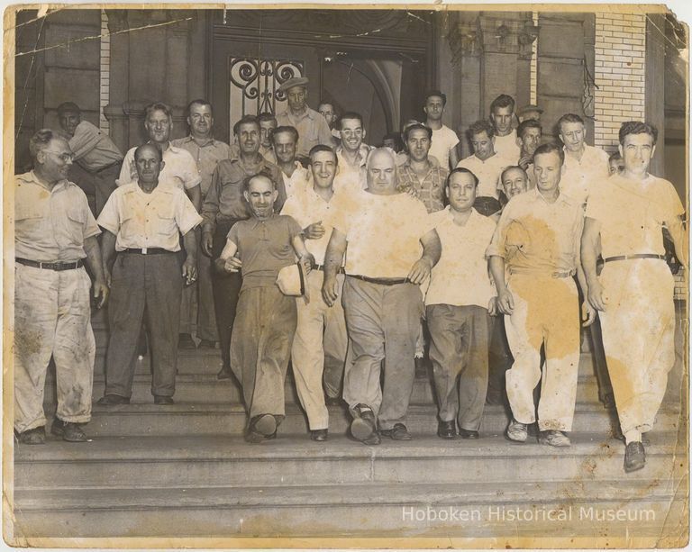
[[[444,208],[444,183],[450,171],[434,167],[428,158],[432,131],[423,124],[406,127],[404,140],[408,159],[397,167],[398,189],[412,192],[420,199],[428,213]]]

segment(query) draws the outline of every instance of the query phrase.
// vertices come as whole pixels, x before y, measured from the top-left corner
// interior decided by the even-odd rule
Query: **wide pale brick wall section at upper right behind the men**
[[[622,122],[644,119],[645,50],[645,15],[596,14],[594,142],[608,153]]]

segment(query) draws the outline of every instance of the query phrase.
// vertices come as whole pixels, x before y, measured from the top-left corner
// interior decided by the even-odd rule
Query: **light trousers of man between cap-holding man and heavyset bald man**
[[[336,277],[341,297],[343,275]],[[309,303],[305,303],[303,297],[296,298],[298,323],[291,349],[298,398],[307,414],[310,430],[329,428],[324,392],[330,397],[339,396],[347,348],[346,320],[341,301],[332,307],[324,303],[323,279],[323,271],[313,270],[306,283]]]

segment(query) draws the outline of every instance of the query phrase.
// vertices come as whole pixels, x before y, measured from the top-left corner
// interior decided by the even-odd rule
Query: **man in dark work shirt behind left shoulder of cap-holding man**
[[[281,172],[276,165],[259,155],[259,121],[254,115],[245,115],[233,125],[233,135],[238,141],[238,158],[224,159],[214,170],[212,185],[202,206],[205,218],[202,227],[202,249],[214,260],[221,255],[226,235],[233,224],[250,217],[248,202],[243,196],[242,183],[247,176],[260,171],[269,173],[278,183],[278,198],[275,206],[280,209],[286,201],[286,190]],[[239,273],[228,274],[212,267],[212,290],[216,330],[219,332],[219,347],[223,365],[219,379],[231,377],[231,332],[235,320],[235,307],[241,291]]]

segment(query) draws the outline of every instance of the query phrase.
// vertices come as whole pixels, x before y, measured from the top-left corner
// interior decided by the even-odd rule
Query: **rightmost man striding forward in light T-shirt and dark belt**
[[[642,433],[653,428],[675,362],[673,276],[662,229],[687,267],[683,205],[675,188],[649,171],[658,131],[624,122],[624,171],[593,186],[587,201],[582,262],[588,301],[599,311],[610,380],[626,443],[624,471],[646,462]],[[599,244],[605,265],[596,275]]]

